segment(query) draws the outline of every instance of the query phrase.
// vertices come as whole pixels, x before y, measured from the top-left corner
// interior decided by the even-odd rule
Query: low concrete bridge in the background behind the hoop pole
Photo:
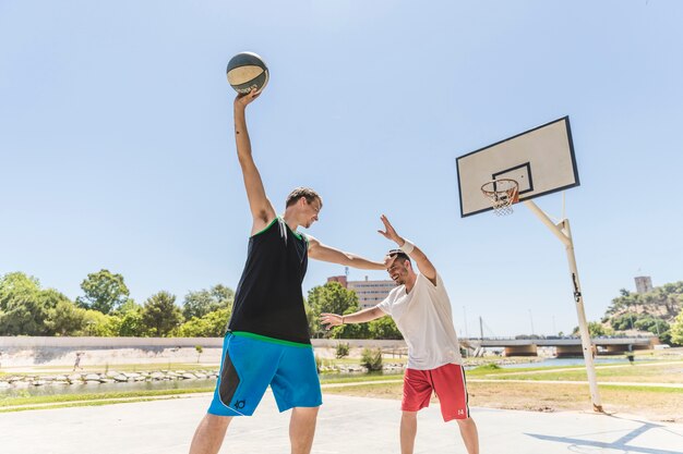
[[[592,338],[591,344],[597,354],[613,355],[634,349],[650,349],[659,343],[657,336],[600,336]],[[580,338],[559,336],[525,336],[517,338],[470,338],[460,339],[460,344],[471,351],[481,351],[487,347],[504,348],[504,356],[538,356],[538,347],[554,347],[555,356],[582,356]]]

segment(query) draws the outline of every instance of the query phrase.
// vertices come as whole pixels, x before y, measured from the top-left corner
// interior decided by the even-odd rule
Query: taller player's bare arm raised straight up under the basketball
[[[251,155],[251,142],[247,131],[247,106],[256,99],[259,95],[252,90],[248,95],[238,95],[235,98],[235,143],[237,145],[237,158],[242,168],[244,177],[244,188],[249,199],[249,208],[253,217],[251,233],[254,234],[263,230],[273,219],[275,219],[275,208],[265,195],[263,181],[254,159]]]

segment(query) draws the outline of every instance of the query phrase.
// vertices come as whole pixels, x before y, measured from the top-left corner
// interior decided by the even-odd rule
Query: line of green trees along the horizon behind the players
[[[167,291],[139,304],[130,297],[123,277],[107,269],[87,274],[81,290],[83,295],[72,302],[21,271],[1,275],[0,335],[219,338],[225,335],[235,299],[232,289],[216,284],[188,292],[180,304]],[[360,309],[356,292],[337,282],[312,287],[304,304],[312,338],[403,339],[390,317],[324,330],[319,322],[322,312],[344,315]],[[683,345],[682,308],[683,281],[648,294],[622,289],[601,322],[590,322],[589,328],[591,335],[635,330]]]

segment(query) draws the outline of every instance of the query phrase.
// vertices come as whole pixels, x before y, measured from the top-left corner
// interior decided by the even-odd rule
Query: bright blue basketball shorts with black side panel
[[[268,385],[280,412],[322,405],[313,347],[247,332],[228,333],[208,413],[251,416]]]

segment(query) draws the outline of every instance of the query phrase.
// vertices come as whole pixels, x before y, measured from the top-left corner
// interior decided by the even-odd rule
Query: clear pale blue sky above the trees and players
[[[235,287],[251,218],[225,66],[251,50],[271,69],[248,119],[278,208],[316,188],[310,233],[378,259],[386,213],[443,275],[459,333],[479,316],[488,335],[566,332],[563,246],[523,206],[462,219],[455,158],[570,115],[588,319],[635,275],[682,280],[682,17],[678,0],[2,0],[0,273],[75,298],[107,268],[139,303]],[[343,272],[311,262],[304,291]]]

